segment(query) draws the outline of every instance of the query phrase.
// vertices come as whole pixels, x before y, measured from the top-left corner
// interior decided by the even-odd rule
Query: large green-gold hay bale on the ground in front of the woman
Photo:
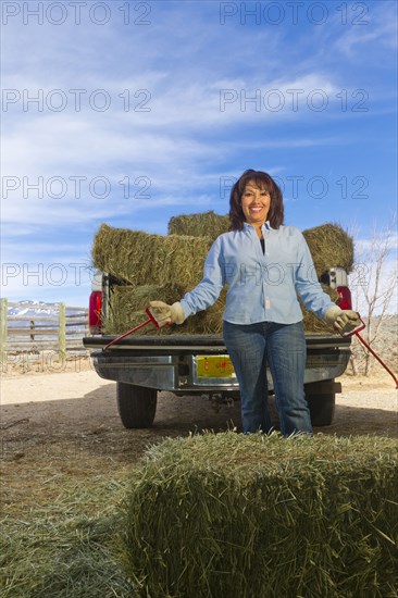
[[[123,550],[137,596],[393,597],[397,441],[167,439],[134,474]]]

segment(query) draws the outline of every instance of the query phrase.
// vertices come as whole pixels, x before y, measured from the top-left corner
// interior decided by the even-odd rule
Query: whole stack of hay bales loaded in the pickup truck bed
[[[145,308],[151,300],[178,301],[202,277],[206,257],[214,237],[225,232],[228,216],[214,212],[174,216],[170,235],[150,235],[140,231],[113,228],[102,224],[92,247],[95,267],[112,274],[125,286],[113,287],[111,310],[103,321],[105,334],[122,334],[146,319]],[[208,236],[201,236],[207,234]],[[352,267],[352,239],[336,224],[325,224],[303,232],[313,256],[318,276],[329,266]],[[337,292],[323,289],[333,301]],[[189,317],[182,326],[142,328],[142,335],[222,333],[225,291],[207,312]],[[301,304],[307,333],[336,334]]]

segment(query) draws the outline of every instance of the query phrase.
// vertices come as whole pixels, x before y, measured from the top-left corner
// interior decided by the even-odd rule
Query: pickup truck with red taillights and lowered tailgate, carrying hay
[[[337,291],[336,302],[341,309],[351,309],[347,272],[343,267],[328,269],[321,282]],[[83,342],[91,351],[98,375],[117,383],[117,408],[126,428],[151,426],[161,390],[217,401],[239,399],[239,385],[222,336],[133,334],[104,350],[115,336],[101,334],[101,321],[110,308],[112,287],[117,284],[116,278],[105,273],[95,277],[89,301],[91,336]],[[312,424],[331,425],[336,394],[341,391],[341,384],[335,378],[347,367],[351,339],[307,334],[306,340],[304,390]],[[272,394],[271,378],[269,389]]]

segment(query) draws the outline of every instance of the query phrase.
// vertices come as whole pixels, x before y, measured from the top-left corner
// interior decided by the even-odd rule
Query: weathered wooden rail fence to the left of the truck
[[[8,308],[28,307],[0,299],[1,361],[15,353],[55,351],[64,362],[67,353],[86,351],[82,339],[88,334],[88,309],[58,303],[52,315],[8,315]],[[73,315],[66,313],[73,311]]]

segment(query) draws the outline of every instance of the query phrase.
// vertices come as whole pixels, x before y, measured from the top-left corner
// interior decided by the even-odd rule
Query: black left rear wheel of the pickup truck
[[[158,393],[134,384],[117,383],[117,411],[124,427],[150,427],[157,411]]]

